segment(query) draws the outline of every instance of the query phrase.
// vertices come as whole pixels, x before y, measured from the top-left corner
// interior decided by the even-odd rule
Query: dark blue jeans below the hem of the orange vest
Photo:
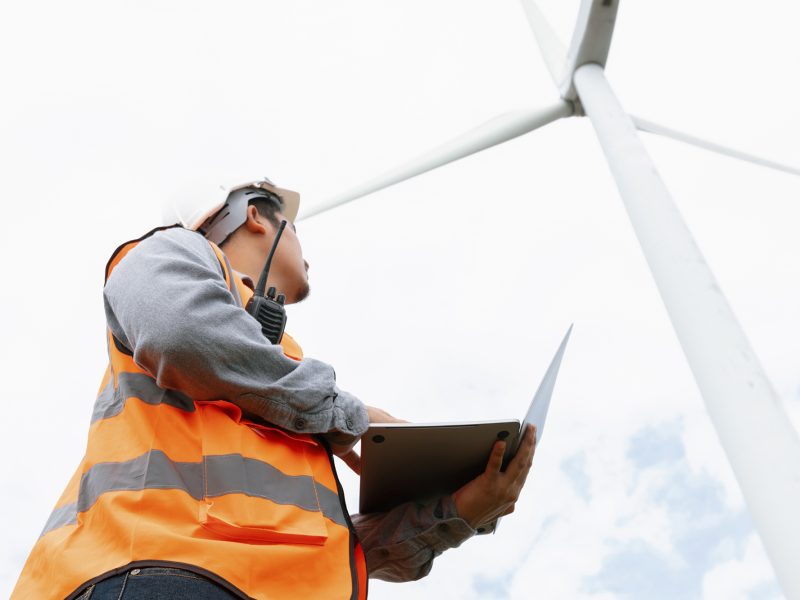
[[[114,575],[83,590],[75,600],[234,600],[225,588],[202,575],[170,567],[141,567]]]

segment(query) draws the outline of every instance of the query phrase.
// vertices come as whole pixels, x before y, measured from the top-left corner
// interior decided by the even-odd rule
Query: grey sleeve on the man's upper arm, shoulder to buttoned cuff
[[[227,400],[299,433],[366,431],[366,407],[336,386],[330,365],[290,359],[262,335],[201,235],[175,228],[142,240],[103,295],[112,334],[160,387]]]

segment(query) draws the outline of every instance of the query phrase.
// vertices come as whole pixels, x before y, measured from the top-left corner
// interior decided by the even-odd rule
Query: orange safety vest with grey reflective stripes
[[[120,246],[106,279],[155,231]],[[252,291],[212,247],[246,304]],[[288,335],[281,345],[302,358]],[[159,388],[110,330],[108,354],[86,455],[12,598],[74,598],[135,566],[185,568],[243,597],[366,598],[364,553],[319,439]]]

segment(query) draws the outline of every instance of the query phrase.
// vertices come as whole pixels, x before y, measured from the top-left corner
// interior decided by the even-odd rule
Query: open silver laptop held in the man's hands
[[[544,433],[550,398],[572,326],[567,330],[522,419],[467,423],[373,424],[361,438],[362,513],[384,512],[412,500],[449,494],[480,475],[491,448],[506,440],[504,466],[516,454],[521,433],[536,426]],[[493,526],[486,532],[493,529]],[[484,532],[481,532],[484,533]]]

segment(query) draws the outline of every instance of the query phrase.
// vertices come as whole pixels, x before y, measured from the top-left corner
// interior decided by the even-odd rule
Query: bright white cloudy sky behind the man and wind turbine
[[[577,3],[542,6],[568,41]],[[800,165],[800,8],[753,6],[623,2],[608,77],[634,114]],[[165,190],[267,174],[312,204],[556,98],[515,0],[5,2],[0,77],[0,595],[83,453],[105,262]],[[643,139],[797,426],[800,178]],[[586,119],[299,231],[289,331],[398,416],[519,415],[575,322],[517,512],[372,597],[781,597]]]

